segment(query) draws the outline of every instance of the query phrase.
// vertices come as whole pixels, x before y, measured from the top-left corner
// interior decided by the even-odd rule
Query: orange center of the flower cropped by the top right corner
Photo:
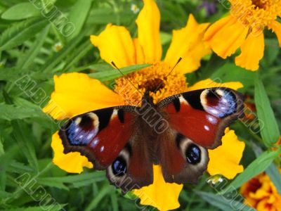
[[[229,0],[231,14],[250,30],[259,31],[281,15],[281,1]]]

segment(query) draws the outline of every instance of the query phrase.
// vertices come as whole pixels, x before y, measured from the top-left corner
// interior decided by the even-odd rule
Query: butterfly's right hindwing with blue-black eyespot
[[[166,182],[195,184],[207,169],[208,151],[173,129],[168,129],[159,150],[159,164]],[[169,139],[166,139],[169,137]]]

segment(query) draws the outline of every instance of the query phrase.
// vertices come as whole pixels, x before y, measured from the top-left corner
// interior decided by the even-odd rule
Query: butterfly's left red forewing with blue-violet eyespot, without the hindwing
[[[78,151],[105,169],[129,142],[135,114],[122,108],[105,108],[78,115],[60,129],[65,153]]]

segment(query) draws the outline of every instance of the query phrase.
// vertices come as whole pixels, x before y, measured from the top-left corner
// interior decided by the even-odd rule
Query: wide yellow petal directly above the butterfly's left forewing
[[[55,75],[54,81],[55,91],[43,111],[57,120],[91,110],[124,105],[121,96],[105,87],[98,79],[91,79],[84,73]]]

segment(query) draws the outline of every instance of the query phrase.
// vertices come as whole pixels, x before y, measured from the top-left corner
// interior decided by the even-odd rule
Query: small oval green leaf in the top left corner
[[[39,15],[40,11],[37,8],[35,8],[29,2],[25,2],[15,4],[11,8],[8,8],[8,10],[1,15],[1,18],[6,20],[22,20],[25,18],[32,18]]]

